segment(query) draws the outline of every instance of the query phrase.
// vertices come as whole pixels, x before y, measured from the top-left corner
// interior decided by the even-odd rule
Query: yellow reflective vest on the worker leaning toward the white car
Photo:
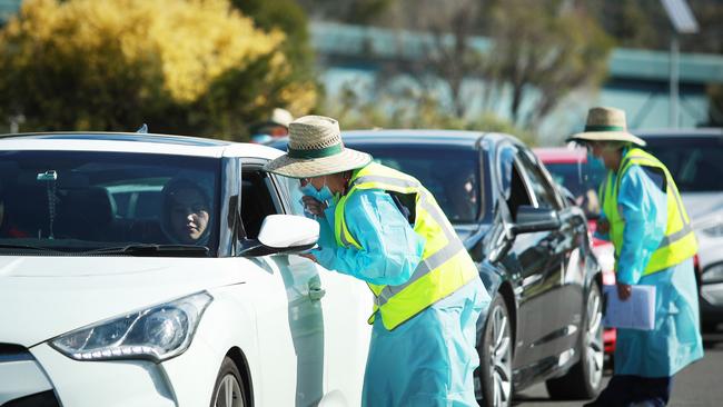
[[[344,218],[347,199],[357,190],[382,189],[415,196],[414,231],[425,238],[422,261],[409,279],[398,286],[368,284],[375,295],[374,322],[377,310],[385,328],[392,330],[436,301],[449,296],[474,278],[477,267],[455,234],[434,197],[413,177],[378,163],[355,171],[349,191],[335,210],[337,245],[364,250],[349,234]]]

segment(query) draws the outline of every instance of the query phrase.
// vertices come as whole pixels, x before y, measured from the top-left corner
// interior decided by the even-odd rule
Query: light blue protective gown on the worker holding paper
[[[655,286],[655,329],[617,329],[615,375],[670,377],[703,357],[693,260],[643,276],[667,225],[667,197],[658,178],[633,165],[617,195],[625,229],[616,278]]]

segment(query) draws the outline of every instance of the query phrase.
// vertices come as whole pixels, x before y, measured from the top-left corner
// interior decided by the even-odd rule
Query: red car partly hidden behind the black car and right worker
[[[605,177],[605,167],[600,161],[588,162],[584,148],[548,147],[534,148],[533,151],[545,165],[551,176],[558,185],[570,191],[571,199],[578,205],[587,218],[587,228],[595,231],[596,219],[600,217],[600,183]],[[603,269],[603,284],[615,284],[615,248],[607,240],[592,237],[593,251]],[[615,351],[615,328],[605,328],[603,341],[605,354],[612,356]],[[612,360],[612,359],[611,359]]]

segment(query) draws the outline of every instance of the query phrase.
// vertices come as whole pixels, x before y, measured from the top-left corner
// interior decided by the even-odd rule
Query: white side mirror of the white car
[[[261,222],[258,241],[276,252],[308,250],[319,239],[319,224],[295,215],[269,215]]]

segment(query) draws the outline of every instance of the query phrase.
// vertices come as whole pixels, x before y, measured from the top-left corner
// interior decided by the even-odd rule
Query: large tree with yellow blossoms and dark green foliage
[[[316,102],[283,43],[227,0],[27,0],[0,31],[0,118],[244,138],[270,107]]]

